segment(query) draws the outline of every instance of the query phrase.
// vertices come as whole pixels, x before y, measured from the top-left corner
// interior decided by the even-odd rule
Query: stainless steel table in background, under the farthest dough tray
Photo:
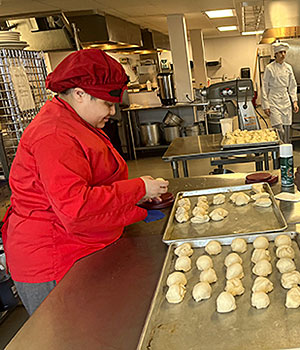
[[[179,161],[182,162],[184,176],[188,177],[189,172],[187,161],[201,158],[220,158],[244,154],[263,154],[265,170],[269,170],[269,153],[271,153],[273,167],[274,169],[278,168],[277,158],[279,153],[279,145],[222,149],[221,140],[221,134],[180,137],[171,143],[165,154],[162,156],[162,159],[166,162],[171,162],[174,178],[179,177]],[[241,159],[240,162],[242,163],[243,159]],[[262,169],[262,162],[257,161],[256,170]]]

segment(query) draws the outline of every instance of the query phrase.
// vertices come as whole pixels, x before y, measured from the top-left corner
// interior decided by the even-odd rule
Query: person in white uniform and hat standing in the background
[[[273,128],[278,129],[281,139],[290,142],[292,108],[299,111],[297,83],[292,66],[284,62],[289,44],[278,42],[273,45],[275,61],[265,69],[262,86],[262,107],[270,117]]]

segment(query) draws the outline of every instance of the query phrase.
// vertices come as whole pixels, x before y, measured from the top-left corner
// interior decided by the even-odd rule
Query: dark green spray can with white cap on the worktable
[[[294,159],[293,145],[283,144],[279,146],[281,185],[294,186]]]

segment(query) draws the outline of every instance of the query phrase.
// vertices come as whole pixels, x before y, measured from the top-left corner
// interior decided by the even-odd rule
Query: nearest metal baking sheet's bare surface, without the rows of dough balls
[[[264,236],[270,241],[281,233],[268,233]],[[296,232],[284,232],[293,238],[295,263],[300,271],[299,237]],[[249,243],[260,236],[244,235]],[[192,241],[192,270],[186,273],[187,289],[180,304],[169,304],[165,299],[167,276],[175,271],[174,249],[178,243],[170,245],[164,262],[159,283],[138,344],[138,350],[266,350],[300,348],[299,309],[285,308],[287,290],[280,285],[280,273],[275,264],[274,243],[270,242],[272,274],[268,278],[274,284],[269,293],[270,305],[257,310],[251,306],[251,288],[256,276],[252,274],[251,255],[253,245],[248,245],[247,252],[240,254],[243,259],[245,277],[242,279],[245,293],[236,296],[237,308],[226,314],[216,312],[216,298],[225,287],[224,259],[231,252],[230,243],[235,238],[222,237],[218,241],[223,245],[222,253],[213,256],[214,268],[218,281],[212,284],[212,296],[208,300],[195,302],[192,289],[199,282],[200,272],[196,260],[204,253],[204,246],[210,239]]]

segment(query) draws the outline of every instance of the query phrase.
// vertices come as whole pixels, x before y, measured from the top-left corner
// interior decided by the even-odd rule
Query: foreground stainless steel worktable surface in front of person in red
[[[170,179],[170,190],[240,185],[245,175]],[[272,188],[280,192],[280,185]],[[289,204],[284,215],[300,223],[298,203]],[[123,238],[78,261],[7,349],[136,349],[167,252],[162,234],[170,210],[160,221],[127,227]]]

